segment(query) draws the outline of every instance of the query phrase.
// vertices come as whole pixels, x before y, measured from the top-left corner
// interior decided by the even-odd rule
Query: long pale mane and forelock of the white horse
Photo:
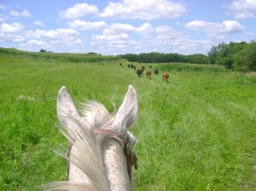
[[[90,184],[67,181],[52,182],[44,185],[47,190],[108,190],[108,180],[103,165],[102,142],[110,137],[118,138],[108,133],[94,133],[93,130],[108,129],[109,124],[112,124],[115,118],[115,109],[113,113],[108,113],[106,107],[101,103],[87,101],[82,105],[80,111],[82,116],[79,119],[75,119],[72,115],[68,116],[76,124],[76,128],[70,130],[67,126],[61,127],[63,136],[79,150],[78,155],[74,156],[69,153],[70,156],[66,154],[61,154],[61,156],[83,171],[90,179]],[[74,159],[71,159],[72,156]]]

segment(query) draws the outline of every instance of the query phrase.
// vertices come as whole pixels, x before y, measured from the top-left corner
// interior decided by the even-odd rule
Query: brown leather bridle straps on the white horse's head
[[[127,140],[125,140],[122,136],[120,136],[119,134],[117,134],[113,130],[95,129],[95,130],[93,130],[93,132],[96,133],[96,134],[108,134],[108,135],[116,136],[117,138],[119,138],[119,140],[122,141],[122,148],[124,150],[125,157],[126,157],[127,172],[128,172],[130,182],[131,182],[131,168],[134,165],[134,168],[137,170],[138,165],[137,165],[137,156],[136,156],[136,154],[132,151],[128,151],[128,144],[129,143],[127,142]],[[73,147],[73,144],[69,143],[68,144],[68,151],[66,153],[67,158],[69,158],[69,156],[70,156],[70,152],[71,152],[72,147]],[[69,177],[69,165],[70,165],[69,163],[70,162],[67,160],[66,180],[68,180],[68,177]]]

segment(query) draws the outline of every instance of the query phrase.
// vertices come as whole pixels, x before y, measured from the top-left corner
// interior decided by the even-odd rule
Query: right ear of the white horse
[[[129,85],[128,91],[122,105],[116,113],[114,123],[121,128],[128,129],[137,119],[137,93],[132,85]]]

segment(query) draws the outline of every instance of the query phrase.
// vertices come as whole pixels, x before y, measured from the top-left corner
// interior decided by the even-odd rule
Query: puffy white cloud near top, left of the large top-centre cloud
[[[97,14],[98,9],[95,5],[89,5],[87,3],[75,4],[72,8],[61,11],[59,16],[62,19],[73,20],[89,14]]]

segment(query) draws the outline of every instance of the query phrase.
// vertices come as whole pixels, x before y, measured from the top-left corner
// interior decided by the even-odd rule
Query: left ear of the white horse
[[[70,130],[74,132],[73,130],[77,127],[75,120],[80,117],[65,86],[61,88],[57,97],[57,116],[60,123],[66,127],[69,132]]]

